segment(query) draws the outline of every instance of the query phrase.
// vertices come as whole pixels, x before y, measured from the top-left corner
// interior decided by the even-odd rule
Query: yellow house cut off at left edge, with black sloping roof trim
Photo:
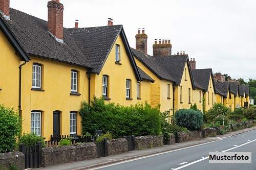
[[[0,29],[0,104],[18,111],[21,96],[19,73],[23,66],[20,62],[29,62],[29,57],[1,16]]]

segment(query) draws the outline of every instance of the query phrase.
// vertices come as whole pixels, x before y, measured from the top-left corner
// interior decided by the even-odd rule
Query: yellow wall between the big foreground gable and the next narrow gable
[[[135,58],[136,64],[140,67],[148,76],[155,80],[151,83],[151,106],[155,107],[160,105],[161,111],[173,109],[173,82],[160,80],[153,72],[145,67],[139,60]],[[167,99],[167,84],[170,84],[170,99]],[[170,112],[171,114],[173,112]]]

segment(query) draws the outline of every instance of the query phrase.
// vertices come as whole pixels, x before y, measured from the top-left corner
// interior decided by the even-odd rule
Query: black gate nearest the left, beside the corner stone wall
[[[22,143],[19,151],[25,155],[25,169],[41,167],[41,142],[29,147]]]

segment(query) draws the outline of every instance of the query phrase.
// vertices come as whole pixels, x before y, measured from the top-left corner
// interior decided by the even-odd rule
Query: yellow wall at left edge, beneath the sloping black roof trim
[[[0,104],[18,110],[20,58],[0,31]]]

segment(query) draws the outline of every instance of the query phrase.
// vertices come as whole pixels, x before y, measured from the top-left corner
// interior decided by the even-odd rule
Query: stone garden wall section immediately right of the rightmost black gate
[[[163,146],[163,136],[136,136],[135,150],[143,150]]]

